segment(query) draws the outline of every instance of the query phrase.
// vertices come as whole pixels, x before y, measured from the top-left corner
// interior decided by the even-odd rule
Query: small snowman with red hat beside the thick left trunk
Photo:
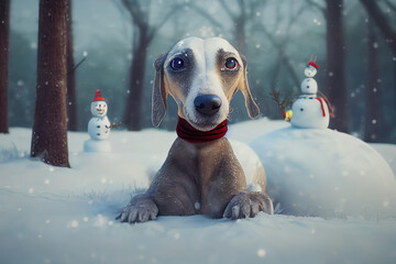
[[[90,105],[92,118],[88,122],[88,134],[90,140],[84,142],[86,152],[110,152],[111,145],[107,141],[110,135],[111,124],[107,117],[108,107],[105,98],[100,96],[100,90],[96,91],[96,97]]]

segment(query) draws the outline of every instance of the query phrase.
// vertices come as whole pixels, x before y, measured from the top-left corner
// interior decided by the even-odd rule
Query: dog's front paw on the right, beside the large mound
[[[273,213],[273,205],[270,197],[260,191],[242,191],[235,195],[228,204],[223,217],[233,220],[254,218],[260,211]]]

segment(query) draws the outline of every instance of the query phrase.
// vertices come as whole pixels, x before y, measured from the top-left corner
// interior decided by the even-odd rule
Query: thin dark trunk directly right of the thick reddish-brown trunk
[[[76,89],[76,72],[74,70],[75,63],[73,56],[73,10],[72,0],[67,1],[67,16],[66,16],[66,64],[67,64],[67,128],[70,131],[78,130],[77,123],[77,89]]]

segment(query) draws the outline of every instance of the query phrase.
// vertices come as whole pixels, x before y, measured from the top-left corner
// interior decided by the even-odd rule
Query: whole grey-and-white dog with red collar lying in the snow
[[[250,118],[260,114],[249,89],[246,59],[220,37],[189,37],[154,62],[152,121],[158,127],[170,95],[178,106],[178,138],[145,194],[134,196],[119,213],[121,222],[145,222],[157,216],[205,215],[253,218],[273,213],[264,169],[248,191],[229,141],[223,138],[230,101],[240,90]]]

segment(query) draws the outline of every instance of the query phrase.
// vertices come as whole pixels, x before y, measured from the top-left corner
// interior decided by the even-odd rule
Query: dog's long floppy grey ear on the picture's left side
[[[164,76],[164,63],[167,54],[161,54],[154,61],[155,79],[152,97],[152,122],[158,127],[166,114],[166,99],[168,96],[167,84]]]

